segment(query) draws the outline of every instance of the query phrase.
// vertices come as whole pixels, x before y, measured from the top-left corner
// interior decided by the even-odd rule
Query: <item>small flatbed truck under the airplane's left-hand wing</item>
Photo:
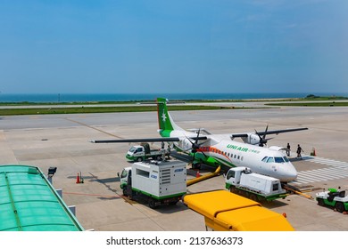
[[[169,149],[150,149],[147,142],[132,146],[126,154],[126,158],[134,162],[141,162],[146,159],[162,160],[163,157],[170,157]]]

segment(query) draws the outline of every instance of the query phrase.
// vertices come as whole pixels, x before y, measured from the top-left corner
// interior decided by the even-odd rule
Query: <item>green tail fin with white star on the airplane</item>
[[[182,130],[177,124],[172,120],[168,108],[167,100],[164,98],[157,98],[157,117],[160,132],[165,136],[164,133],[171,132],[174,130]]]

